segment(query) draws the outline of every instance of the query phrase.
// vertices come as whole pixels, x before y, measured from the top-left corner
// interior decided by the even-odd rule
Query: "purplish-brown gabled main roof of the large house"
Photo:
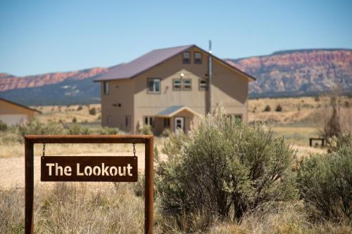
[[[189,50],[189,48],[192,48],[192,47],[195,47],[200,51],[202,51],[203,53],[210,55],[210,53],[208,53],[207,51],[204,51],[202,48],[199,48],[196,45],[160,48],[160,49],[150,51],[149,53],[146,53],[143,56],[140,56],[139,58],[136,58],[130,61],[129,63],[122,63],[120,65],[113,67],[106,74],[103,74],[101,77],[94,79],[94,82],[103,82],[103,81],[109,81],[114,79],[129,79],[129,78],[136,77],[142,72],[146,72],[147,70],[155,67],[156,65],[159,65],[164,61],[174,56],[177,56],[179,53]],[[218,60],[223,65],[226,65],[227,67],[230,67],[233,70],[236,70],[241,74],[244,74],[244,76],[248,77],[249,79],[256,80],[256,78],[252,77],[246,72],[242,72],[237,67],[234,67],[234,65],[227,63],[225,60],[215,57],[212,54],[211,56],[215,58],[215,60]]]

